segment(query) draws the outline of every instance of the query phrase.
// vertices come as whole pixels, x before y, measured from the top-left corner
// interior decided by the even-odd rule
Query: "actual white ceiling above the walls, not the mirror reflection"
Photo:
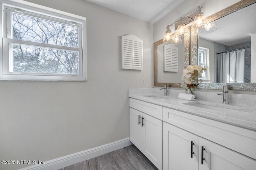
[[[93,4],[155,23],[185,0],[86,0]]]

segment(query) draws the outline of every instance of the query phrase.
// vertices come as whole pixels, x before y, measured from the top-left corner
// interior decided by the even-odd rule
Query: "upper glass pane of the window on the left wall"
[[[12,38],[38,43],[79,46],[78,27],[12,13]]]

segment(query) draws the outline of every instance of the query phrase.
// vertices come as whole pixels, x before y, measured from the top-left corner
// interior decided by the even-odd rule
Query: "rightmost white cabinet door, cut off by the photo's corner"
[[[199,144],[199,170],[256,169],[256,160],[253,160],[247,156],[202,138],[199,138]]]

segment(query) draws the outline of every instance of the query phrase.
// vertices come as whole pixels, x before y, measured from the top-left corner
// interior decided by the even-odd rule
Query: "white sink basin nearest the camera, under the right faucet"
[[[188,106],[198,107],[198,110],[199,108],[201,108],[201,109],[210,109],[214,111],[219,111],[223,115],[245,116],[249,113],[256,111],[256,109],[251,109],[246,107],[232,106],[232,105],[225,105],[225,104],[215,104],[215,103],[201,102],[201,101],[188,102],[184,104]]]

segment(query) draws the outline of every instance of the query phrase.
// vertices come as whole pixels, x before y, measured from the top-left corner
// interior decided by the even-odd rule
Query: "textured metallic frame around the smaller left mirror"
[[[189,34],[184,36],[184,68],[190,64],[190,27],[187,27],[187,29]],[[154,43],[154,86],[163,87],[164,84],[167,84],[167,87],[185,88],[187,85],[186,83],[157,82],[157,46],[162,43],[164,43],[163,39]]]

